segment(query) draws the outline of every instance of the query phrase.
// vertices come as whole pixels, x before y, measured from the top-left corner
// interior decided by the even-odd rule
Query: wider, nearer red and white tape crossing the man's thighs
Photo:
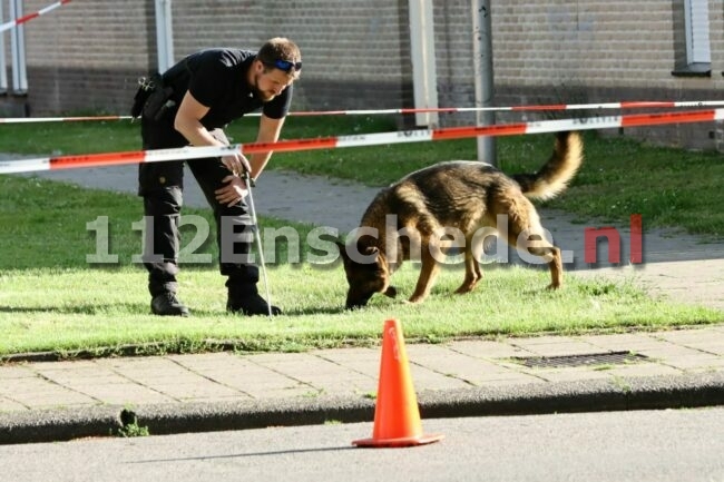
[[[72,169],[80,167],[115,166],[124,164],[160,163],[178,159],[219,157],[233,151],[244,154],[335,149],[342,147],[376,146],[385,144],[421,142],[425,140],[462,139],[477,136],[516,136],[524,134],[559,132],[562,130],[595,130],[620,127],[658,126],[665,124],[691,124],[724,120],[724,109],[684,112],[637,114],[629,116],[589,117],[579,119],[540,120],[535,122],[503,124],[496,126],[450,127],[429,130],[403,130],[397,132],[361,134],[352,136],[321,137],[313,139],[255,142],[228,147],[183,147],[176,149],[137,150],[126,153],[87,154],[38,159],[0,161],[0,174],[38,170]]]

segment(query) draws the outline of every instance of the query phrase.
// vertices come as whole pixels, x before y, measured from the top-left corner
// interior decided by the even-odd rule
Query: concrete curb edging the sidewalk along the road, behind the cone
[[[684,409],[724,405],[724,372],[609,381],[425,391],[424,419]],[[264,400],[239,403],[94,406],[0,414],[0,444],[111,436],[131,412],[151,435],[371,422],[374,402],[360,396]]]

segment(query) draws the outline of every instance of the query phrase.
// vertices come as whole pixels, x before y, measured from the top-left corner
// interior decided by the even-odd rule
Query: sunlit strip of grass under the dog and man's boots
[[[423,305],[373,297],[362,311],[344,311],[341,268],[280,265],[268,270],[272,296],[283,316],[243,318],[224,312],[225,291],[216,269],[186,269],[183,299],[188,318],[153,316],[146,276],[137,266],[2,270],[0,354],[51,351],[74,356],[187,353],[234,348],[244,352],[369,346],[384,319],[404,323],[411,343],[453,337],[575,334],[653,329],[718,322],[721,312],[652,299],[630,283],[568,278],[548,292],[548,274],[521,267],[493,268],[477,291],[450,293],[462,279],[447,269]],[[417,277],[411,265],[395,274],[402,296]]]

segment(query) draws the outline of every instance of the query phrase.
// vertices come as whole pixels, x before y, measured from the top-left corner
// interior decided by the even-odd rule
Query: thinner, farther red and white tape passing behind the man
[[[549,104],[531,106],[506,106],[506,107],[440,107],[421,109],[368,109],[368,110],[302,110],[288,112],[288,116],[372,116],[390,114],[424,114],[424,112],[485,112],[485,111],[534,111],[534,110],[604,110],[604,109],[652,109],[652,108],[702,108],[723,107],[724,100],[695,100],[695,101],[656,101],[643,100],[630,102],[604,102],[604,104]],[[261,116],[260,112],[252,112],[247,116]],[[23,122],[68,122],[84,120],[126,120],[131,116],[82,116],[82,117],[6,117],[0,118],[0,124],[23,124]]]

